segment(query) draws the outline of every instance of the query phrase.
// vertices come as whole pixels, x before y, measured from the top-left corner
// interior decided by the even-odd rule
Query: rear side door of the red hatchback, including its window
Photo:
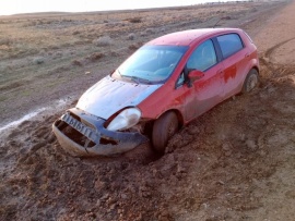
[[[249,54],[236,33],[216,37],[223,57],[223,84],[224,97],[228,98],[239,93],[245,74],[247,74],[247,59]]]

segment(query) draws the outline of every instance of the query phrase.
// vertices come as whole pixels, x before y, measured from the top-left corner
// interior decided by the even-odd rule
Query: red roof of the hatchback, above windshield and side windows
[[[197,39],[201,39],[208,36],[214,36],[217,34],[225,34],[228,32],[238,32],[238,28],[200,28],[200,29],[188,29],[177,33],[172,33],[164,35],[162,37],[155,38],[148,42],[146,45],[154,46],[189,46]]]

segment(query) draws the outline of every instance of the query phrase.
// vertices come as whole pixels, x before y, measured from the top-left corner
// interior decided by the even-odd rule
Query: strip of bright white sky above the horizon
[[[236,0],[0,0],[0,15],[33,12],[91,12],[191,5]]]

